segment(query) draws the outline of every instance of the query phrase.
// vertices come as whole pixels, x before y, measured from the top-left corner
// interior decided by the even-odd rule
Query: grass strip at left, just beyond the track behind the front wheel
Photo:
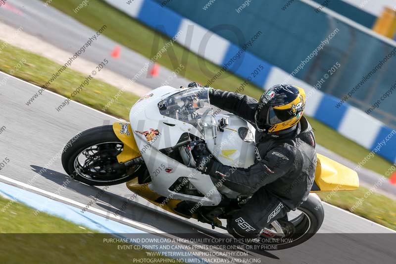
[[[2,46],[3,43],[4,42],[0,41],[0,46]],[[12,45],[7,45],[0,51],[0,71],[13,73],[13,76],[40,87],[45,87],[46,82],[51,78],[53,73],[58,71],[59,67],[61,67],[59,64],[45,57],[27,52]],[[83,82],[86,77],[87,76],[80,72],[67,68],[47,89],[67,98],[71,98],[71,93],[80,86],[81,82]],[[7,81],[7,79],[0,80],[0,87],[6,85]],[[101,110],[118,91],[119,89],[114,86],[93,79],[87,88],[84,88],[73,100]],[[36,92],[32,91],[32,97]],[[27,98],[26,101],[29,99],[30,98]],[[128,119],[131,106],[138,99],[138,96],[129,92],[124,92],[122,96],[119,97],[118,101],[115,101],[106,109],[106,112],[117,117]],[[36,100],[39,101],[42,100],[42,98],[39,96],[35,101]],[[35,102],[33,101],[32,105],[34,104]],[[56,111],[56,109],[53,110]]]

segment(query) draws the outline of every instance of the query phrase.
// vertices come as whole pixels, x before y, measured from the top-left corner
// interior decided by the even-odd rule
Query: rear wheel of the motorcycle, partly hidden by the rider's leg
[[[296,211],[290,211],[287,216],[278,219],[284,236],[269,237],[263,232],[259,244],[268,246],[267,250],[295,247],[315,235],[323,220],[324,210],[320,198],[316,194],[309,194],[308,199]],[[276,233],[274,226],[269,228]]]

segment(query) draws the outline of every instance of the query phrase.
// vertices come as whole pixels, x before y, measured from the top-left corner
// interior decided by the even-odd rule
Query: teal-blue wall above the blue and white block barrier
[[[312,6],[299,0],[293,1],[287,8],[285,4],[288,0],[251,0],[249,5],[239,12],[237,9],[244,1],[217,0],[204,9],[207,2],[171,0],[165,7],[188,17],[236,46],[241,46],[257,31],[262,31],[263,36],[248,51],[289,73],[293,72],[301,60],[304,60],[333,30],[338,28],[340,31],[329,44],[296,74],[297,78],[315,85],[336,62],[341,63],[342,66],[334,74],[334,78],[325,82],[321,88],[322,91],[338,98],[343,98],[378,64],[379,60],[395,49],[395,46],[357,30],[324,12],[315,12]],[[329,5],[336,11],[353,11],[352,19],[363,25],[371,27],[374,23],[374,16],[364,11],[360,12],[358,8],[343,1],[332,0]],[[396,50],[393,51],[395,52]],[[371,107],[382,94],[391,89],[396,81],[393,72],[395,68],[396,59],[389,60],[380,71],[363,84],[352,99],[348,100],[349,104],[363,111]],[[382,102],[374,115],[396,127],[392,100]]]

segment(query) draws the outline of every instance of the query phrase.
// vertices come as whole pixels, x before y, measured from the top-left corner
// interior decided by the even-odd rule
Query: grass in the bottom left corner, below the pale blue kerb
[[[110,243],[114,238],[99,234],[62,218],[0,197],[1,263],[134,263],[147,259],[145,250],[119,250],[126,243]],[[108,240],[107,240],[108,241]],[[167,258],[157,259],[155,263]],[[163,262],[165,263],[165,261]]]

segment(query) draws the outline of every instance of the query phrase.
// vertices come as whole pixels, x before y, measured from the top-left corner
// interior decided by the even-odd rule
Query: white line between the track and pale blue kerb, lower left
[[[6,177],[6,176],[1,175],[1,174],[0,174],[0,179],[3,179],[3,180],[8,181],[8,182],[11,182],[11,183],[16,184],[16,185],[18,185],[18,186],[21,186],[21,187],[23,187],[24,189],[30,189],[30,190],[39,192],[39,193],[41,193],[41,194],[45,194],[46,197],[48,197],[48,196],[49,196],[49,197],[53,197],[53,198],[56,198],[56,199],[58,199],[58,200],[67,202],[67,203],[69,203],[69,204],[78,206],[78,207],[80,207],[80,208],[84,208],[84,207],[86,206],[86,205],[84,205],[84,204],[82,204],[82,203],[80,203],[80,202],[76,202],[76,201],[71,200],[71,199],[69,199],[69,198],[66,198],[66,197],[63,197],[63,196],[60,196],[60,195],[57,195],[57,194],[48,192],[48,191],[46,191],[46,190],[37,188],[37,187],[35,187],[35,186],[32,186],[32,185],[29,185],[29,184],[26,184],[26,183],[23,183],[23,182],[20,182],[20,181],[11,179],[11,178]],[[49,197],[48,197],[48,198],[49,198]],[[50,198],[49,198],[49,199],[50,199]],[[139,222],[133,221],[133,220],[128,219],[128,218],[121,217],[121,216],[119,216],[119,215],[113,216],[112,214],[109,214],[108,212],[103,211],[103,210],[100,210],[100,209],[98,209],[98,208],[90,207],[88,210],[89,210],[89,211],[92,211],[92,212],[95,212],[95,213],[97,213],[97,214],[104,215],[104,216],[107,217],[107,218],[113,218],[113,219],[116,219],[116,220],[121,221],[121,222],[125,222],[125,223],[128,223],[128,224],[132,224],[132,225],[134,225],[134,226],[140,227],[140,228],[142,228],[142,229],[144,229],[144,230],[151,231],[151,232],[153,232],[153,233],[157,233],[157,234],[164,234],[164,233],[165,233],[165,232],[162,232],[162,231],[160,231],[160,230],[158,230],[158,229],[154,229],[154,228],[152,228],[152,227],[149,227],[149,226],[147,226],[147,225],[141,224],[141,223],[139,223]]]

